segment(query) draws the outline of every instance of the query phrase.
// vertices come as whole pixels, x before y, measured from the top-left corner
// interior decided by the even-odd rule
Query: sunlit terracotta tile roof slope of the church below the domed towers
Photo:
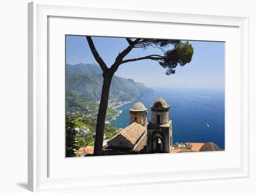
[[[135,144],[145,130],[146,128],[144,126],[133,122],[131,125],[125,127],[120,132],[120,135],[122,135],[126,140],[130,141],[131,144]]]

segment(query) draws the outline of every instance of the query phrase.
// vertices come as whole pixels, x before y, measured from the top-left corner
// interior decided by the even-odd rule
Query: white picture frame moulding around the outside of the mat
[[[240,36],[240,131],[239,166],[208,170],[122,173],[81,177],[49,177],[49,17],[128,20],[134,22],[179,23],[238,27]],[[195,180],[249,177],[249,18],[248,16],[199,15],[74,7],[61,3],[34,1],[28,4],[28,189],[51,191],[87,187],[143,185]],[[64,105],[64,104],[63,104]],[[155,155],[160,156],[160,155]],[[81,159],[80,159],[81,160]],[[86,161],[86,160],[85,160]]]

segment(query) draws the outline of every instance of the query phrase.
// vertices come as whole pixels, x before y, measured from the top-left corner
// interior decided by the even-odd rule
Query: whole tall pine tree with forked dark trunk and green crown
[[[101,155],[102,145],[103,145],[103,136],[104,136],[104,127],[105,127],[105,118],[108,108],[108,97],[109,90],[112,78],[117,71],[118,67],[122,64],[139,61],[139,60],[155,60],[160,66],[166,68],[166,74],[174,74],[175,68],[180,65],[184,66],[189,63],[192,59],[194,49],[189,42],[182,42],[181,40],[158,40],[158,39],[143,39],[143,38],[126,38],[128,47],[126,47],[121,53],[115,58],[115,62],[111,67],[107,67],[104,60],[102,60],[100,54],[98,53],[94,42],[90,36],[87,36],[88,45],[91,49],[91,52],[94,56],[94,59],[99,63],[103,73],[103,85],[101,92],[101,102],[99,106],[99,112],[97,117],[96,125],[96,136],[94,144],[94,155]],[[153,47],[155,49],[161,49],[162,54],[151,54],[148,56],[142,56],[139,58],[126,59],[124,58],[130,53],[133,49],[142,48],[146,49],[148,47]],[[168,48],[168,50],[165,50]],[[106,48],[108,49],[108,48]]]

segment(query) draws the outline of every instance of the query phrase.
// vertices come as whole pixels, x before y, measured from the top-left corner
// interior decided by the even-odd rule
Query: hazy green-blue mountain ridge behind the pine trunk
[[[99,101],[103,84],[102,70],[98,64],[66,64],[66,90],[81,94],[86,99]],[[141,99],[154,90],[133,79],[114,75],[110,93],[110,102],[124,102]]]

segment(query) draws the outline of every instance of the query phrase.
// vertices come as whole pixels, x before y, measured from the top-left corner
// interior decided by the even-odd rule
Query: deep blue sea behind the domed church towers
[[[171,105],[169,119],[173,122],[175,142],[214,142],[225,148],[225,96],[224,90],[155,90],[155,93],[140,101],[148,108],[157,97]],[[125,128],[129,125],[129,109],[138,101],[120,106],[122,113],[110,124]]]

